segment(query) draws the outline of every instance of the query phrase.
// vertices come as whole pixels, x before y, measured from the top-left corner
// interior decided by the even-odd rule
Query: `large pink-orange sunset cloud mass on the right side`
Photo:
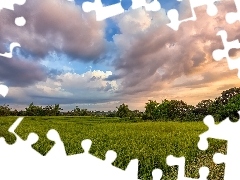
[[[181,17],[189,16],[189,11],[179,9]],[[210,17],[206,7],[196,8],[197,21],[182,23],[176,32],[165,25],[169,20],[164,10],[153,13],[138,9],[116,17],[122,34],[113,37],[119,54],[114,62],[117,72],[113,77],[121,77],[123,95],[154,94],[172,87],[173,82],[183,76],[193,82],[199,73],[204,76],[201,84],[224,77],[226,70],[230,71],[226,63],[222,71],[223,67],[216,65],[211,55],[213,50],[223,48],[221,38],[216,36],[216,27],[224,27],[230,34],[229,39],[240,33],[238,23],[225,22],[225,14],[234,11],[234,4],[225,1],[218,5],[218,10],[217,16]],[[214,65],[217,69],[209,71],[208,67]]]

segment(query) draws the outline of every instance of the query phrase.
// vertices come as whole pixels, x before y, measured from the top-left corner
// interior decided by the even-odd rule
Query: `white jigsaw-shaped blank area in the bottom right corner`
[[[238,114],[240,115],[240,111],[238,111]],[[199,149],[206,150],[208,148],[208,138],[226,140],[227,154],[216,153],[213,161],[216,164],[225,163],[224,180],[240,179],[240,120],[231,122],[229,118],[226,118],[216,125],[214,118],[208,115],[204,118],[203,122],[208,126],[208,130],[199,135]]]

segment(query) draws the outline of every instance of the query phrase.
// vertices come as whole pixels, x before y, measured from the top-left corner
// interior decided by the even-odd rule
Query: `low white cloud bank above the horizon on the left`
[[[116,101],[114,92],[116,81],[105,81],[110,71],[87,71],[83,74],[63,73],[55,79],[47,78],[28,87],[11,87],[3,103],[28,105],[32,101],[40,105],[48,104],[98,104]],[[92,80],[95,77],[94,81]],[[21,98],[19,98],[21,97]]]

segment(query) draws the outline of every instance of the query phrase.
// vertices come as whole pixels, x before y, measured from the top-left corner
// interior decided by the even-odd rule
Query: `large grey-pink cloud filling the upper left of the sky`
[[[17,41],[25,56],[35,60],[49,52],[65,53],[84,61],[97,61],[104,56],[105,22],[97,22],[91,13],[66,0],[26,1],[15,11],[0,11],[0,42]],[[14,20],[23,16],[27,23],[17,27]],[[4,47],[0,51],[4,51]]]

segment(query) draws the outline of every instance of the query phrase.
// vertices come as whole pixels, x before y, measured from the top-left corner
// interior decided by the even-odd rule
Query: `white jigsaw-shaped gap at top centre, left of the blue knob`
[[[82,4],[82,9],[84,12],[95,11],[97,21],[102,21],[124,12],[121,1],[117,4],[112,4],[109,6],[103,6],[101,0],[95,0],[94,2],[84,2]]]

